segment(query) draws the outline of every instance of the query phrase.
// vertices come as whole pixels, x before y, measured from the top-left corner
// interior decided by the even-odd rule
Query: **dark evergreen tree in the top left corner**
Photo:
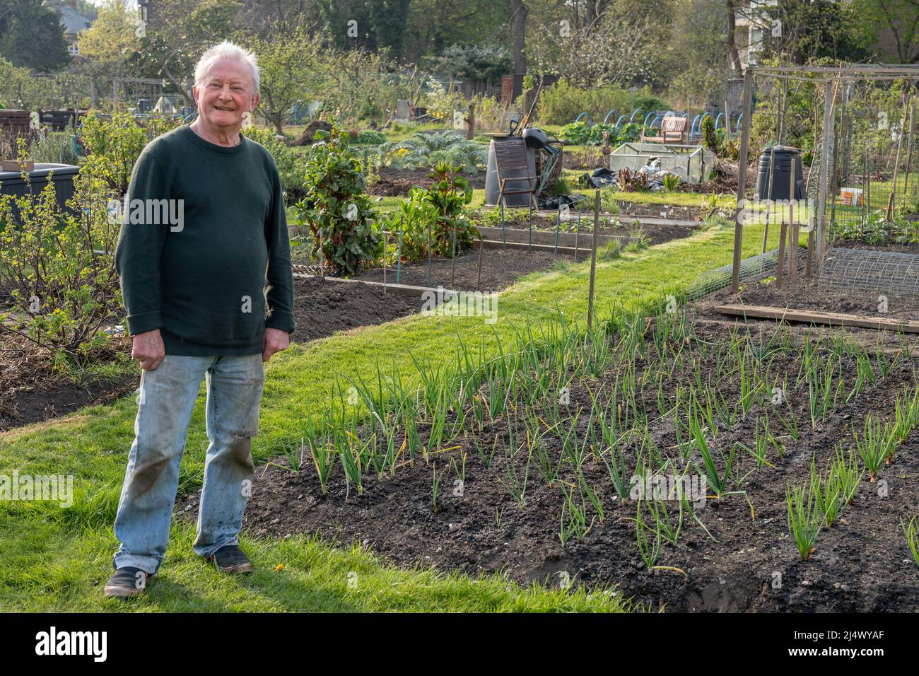
[[[58,70],[70,61],[61,14],[41,0],[5,0],[0,15],[0,56],[13,65],[40,73]]]

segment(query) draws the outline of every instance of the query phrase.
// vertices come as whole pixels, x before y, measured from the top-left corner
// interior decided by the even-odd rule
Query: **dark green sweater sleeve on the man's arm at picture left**
[[[169,186],[162,159],[148,145],[134,163],[127,204],[122,205],[121,231],[115,249],[115,269],[121,279],[121,297],[128,310],[128,328],[137,335],[162,326],[160,320],[160,258],[168,223],[144,223],[146,209],[129,209],[134,200],[168,200]],[[142,215],[141,215],[142,212]],[[141,223],[136,223],[141,220]]]

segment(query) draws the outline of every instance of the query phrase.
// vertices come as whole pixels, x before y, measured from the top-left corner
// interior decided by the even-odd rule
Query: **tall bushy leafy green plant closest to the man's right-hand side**
[[[366,195],[367,179],[343,132],[333,128],[312,146],[307,158],[304,198],[297,203],[297,224],[309,223],[312,254],[322,251],[325,265],[353,275],[372,261],[380,244],[368,223],[375,213]]]

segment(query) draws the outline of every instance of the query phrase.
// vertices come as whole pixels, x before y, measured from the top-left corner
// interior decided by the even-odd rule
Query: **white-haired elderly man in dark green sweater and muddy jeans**
[[[238,534],[264,362],[288,348],[294,328],[278,168],[240,133],[258,83],[253,54],[230,42],[205,52],[195,69],[198,119],[147,145],[130,179],[131,213],[143,223],[132,215],[122,224],[115,258],[142,373],[107,596],[138,595],[163,562],[202,377],[210,446],[193,548],[221,571],[252,570]],[[179,218],[161,223],[165,212]]]

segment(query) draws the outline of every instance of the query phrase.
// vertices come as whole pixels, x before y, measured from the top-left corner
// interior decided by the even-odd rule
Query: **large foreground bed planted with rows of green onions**
[[[851,502],[820,528],[807,560],[789,538],[789,487],[807,485],[811,465],[823,476],[837,445],[863,469],[849,454],[853,432],[861,434],[868,416],[891,422],[902,397],[919,387],[909,352],[835,337],[843,340],[816,342],[800,326],[747,333],[743,325],[677,312],[650,322],[640,317],[608,343],[563,333],[524,340],[487,372],[423,367],[433,384],[397,399],[404,407],[417,396],[420,404],[444,384],[453,393],[443,405],[451,406],[444,436],[432,441],[437,405],[392,418],[413,409],[378,402],[400,449],[390,464],[369,456],[365,466],[380,461],[379,475],[369,471],[358,488],[334,464],[323,491],[308,449],[332,441],[313,436],[312,445],[294,446],[288,458],[256,472],[244,526],[251,535],[319,533],[345,546],[359,542],[404,566],[502,571],[548,585],[618,585],[618,593],[653,611],[911,611],[919,603],[919,569],[902,520],[919,510],[914,423],[891,447],[891,464],[880,466],[877,480],[864,474]],[[515,354],[524,355],[522,363]],[[775,386],[783,388],[781,404]],[[710,419],[703,411],[711,405],[701,403],[709,401]],[[311,415],[323,419],[323,411]],[[618,431],[605,435],[600,416],[607,425],[617,419]],[[409,420],[420,437],[406,448]],[[387,433],[378,429],[375,437],[366,423],[354,430],[359,441],[343,453],[366,451]],[[710,475],[703,443],[714,473],[727,477],[724,486],[703,479],[704,504],[686,504],[675,542],[664,538],[649,558],[647,546],[654,548],[662,529],[648,511],[652,497],[640,506],[630,493],[630,476]],[[193,516],[197,499],[184,498],[180,509]],[[677,501],[654,504],[664,504],[675,524]]]

